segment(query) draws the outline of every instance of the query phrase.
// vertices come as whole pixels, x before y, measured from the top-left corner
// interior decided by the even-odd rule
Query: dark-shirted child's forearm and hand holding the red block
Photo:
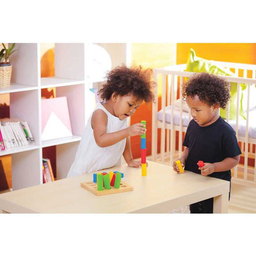
[[[203,176],[207,176],[213,172],[224,172],[235,167],[239,163],[240,155],[234,157],[227,157],[221,162],[217,163],[204,163],[204,166],[198,168],[201,170]]]

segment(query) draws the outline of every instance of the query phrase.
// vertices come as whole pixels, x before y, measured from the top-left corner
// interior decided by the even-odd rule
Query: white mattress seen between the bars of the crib
[[[174,106],[174,125],[180,125],[180,109]],[[163,122],[163,109],[157,113],[157,120]],[[165,122],[171,123],[171,106],[165,108]],[[189,123],[189,114],[186,111],[182,111],[182,125],[187,127]],[[229,124],[236,130],[236,120],[229,120]],[[239,117],[238,121],[238,136],[245,137],[246,120]],[[249,113],[249,134],[250,139],[256,139],[256,108],[250,110]]]

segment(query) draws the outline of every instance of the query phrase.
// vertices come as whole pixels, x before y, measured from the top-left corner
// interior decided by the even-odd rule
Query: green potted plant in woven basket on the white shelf
[[[11,84],[12,65],[9,58],[17,50],[13,50],[15,43],[8,48],[4,43],[2,45],[4,48],[0,51],[0,88],[6,88],[10,87]]]

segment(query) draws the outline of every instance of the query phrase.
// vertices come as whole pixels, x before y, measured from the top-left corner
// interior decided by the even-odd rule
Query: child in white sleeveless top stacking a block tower
[[[131,167],[140,167],[131,152],[130,137],[142,135],[145,126],[136,123],[127,127],[127,117],[134,115],[143,101],[154,100],[151,70],[141,66],[116,67],[106,76],[98,102],[85,127],[74,163],[67,177],[107,169],[121,164],[124,156]]]

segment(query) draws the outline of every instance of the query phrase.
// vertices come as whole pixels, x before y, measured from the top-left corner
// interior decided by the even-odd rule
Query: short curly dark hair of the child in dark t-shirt
[[[230,99],[229,83],[222,77],[213,74],[200,73],[192,76],[185,84],[183,97],[198,95],[199,100],[209,106],[216,103],[226,109]]]

